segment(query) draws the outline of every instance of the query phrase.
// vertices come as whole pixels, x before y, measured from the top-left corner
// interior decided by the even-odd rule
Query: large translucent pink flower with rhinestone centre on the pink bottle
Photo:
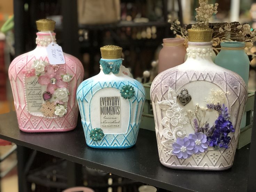
[[[51,94],[55,91],[55,89],[58,88],[67,88],[67,83],[62,81],[61,75],[66,74],[66,70],[64,68],[58,68],[57,70],[54,70],[54,68],[51,65],[47,65],[45,67],[45,74],[41,75],[38,78],[38,82],[41,85],[48,85],[47,91]],[[55,78],[56,82],[53,84],[51,83],[51,79]]]

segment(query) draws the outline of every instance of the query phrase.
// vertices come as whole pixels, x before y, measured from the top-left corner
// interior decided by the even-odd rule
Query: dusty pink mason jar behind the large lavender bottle
[[[158,73],[184,63],[186,49],[184,39],[163,39],[163,48],[159,53]]]

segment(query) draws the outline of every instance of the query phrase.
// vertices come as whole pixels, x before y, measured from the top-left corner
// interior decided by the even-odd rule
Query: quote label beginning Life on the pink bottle
[[[42,86],[37,77],[26,78],[25,80],[27,110],[38,112],[42,106]]]

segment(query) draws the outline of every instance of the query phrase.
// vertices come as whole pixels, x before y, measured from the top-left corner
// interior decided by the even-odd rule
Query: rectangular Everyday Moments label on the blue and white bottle
[[[101,128],[120,128],[120,96],[100,97]]]

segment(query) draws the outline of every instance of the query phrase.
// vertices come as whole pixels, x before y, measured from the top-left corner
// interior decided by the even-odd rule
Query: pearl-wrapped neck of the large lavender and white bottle
[[[188,42],[187,58],[188,59],[211,59],[213,55],[212,42]]]

